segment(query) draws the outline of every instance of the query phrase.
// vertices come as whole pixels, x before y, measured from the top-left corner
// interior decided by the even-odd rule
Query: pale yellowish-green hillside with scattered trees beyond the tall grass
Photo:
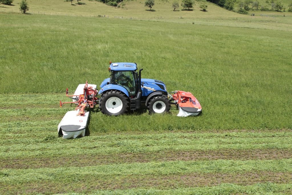
[[[0,12],[19,12],[20,0],[13,2],[14,6],[0,6]],[[77,2],[75,2],[77,3]],[[29,1],[29,14],[48,15],[68,15],[86,17],[105,17],[117,19],[133,20],[154,20],[172,23],[194,23],[199,25],[231,26],[261,29],[292,29],[292,13],[285,12],[285,17],[281,12],[261,12],[253,11],[256,16],[238,14],[227,11],[215,4],[206,2],[207,11],[203,12],[199,8],[203,2],[195,1],[192,11],[173,11],[172,2],[156,0],[152,11],[144,6],[144,1],[126,1],[121,7],[111,7],[97,1],[83,0],[82,5],[71,5],[63,0],[52,1],[31,0]],[[279,28],[279,26],[281,26]]]

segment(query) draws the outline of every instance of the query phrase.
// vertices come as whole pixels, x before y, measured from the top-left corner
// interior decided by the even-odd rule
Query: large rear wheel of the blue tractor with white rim
[[[127,96],[117,90],[107,91],[99,100],[99,109],[103,114],[118,116],[124,114],[129,107]]]

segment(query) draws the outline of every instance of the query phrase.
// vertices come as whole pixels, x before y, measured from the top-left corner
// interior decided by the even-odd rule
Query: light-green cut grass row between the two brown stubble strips
[[[38,169],[2,169],[2,184],[36,181],[81,181],[84,178],[119,175],[172,175],[189,173],[292,172],[292,159],[280,160],[203,160],[126,163],[87,167],[58,167]]]

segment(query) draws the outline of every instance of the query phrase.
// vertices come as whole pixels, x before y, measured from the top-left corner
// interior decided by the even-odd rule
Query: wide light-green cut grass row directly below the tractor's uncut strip
[[[56,130],[54,129],[54,132]],[[208,150],[251,150],[251,149],[291,149],[289,132],[267,134],[268,137],[256,137],[261,133],[203,133],[183,134],[165,133],[149,135],[91,135],[77,140],[63,140],[57,136],[38,138],[33,134],[29,138],[1,139],[1,158],[58,157],[71,155],[110,155],[119,153],[149,153],[157,151],[208,151]],[[263,133],[265,134],[265,133]],[[218,137],[216,137],[218,135]],[[232,136],[234,135],[234,136]],[[253,135],[255,137],[249,137]],[[290,136],[289,136],[290,135]],[[240,138],[243,136],[243,138]]]

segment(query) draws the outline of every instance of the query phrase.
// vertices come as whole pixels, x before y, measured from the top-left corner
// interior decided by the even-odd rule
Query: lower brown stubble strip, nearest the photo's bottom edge
[[[262,182],[290,183],[291,173],[246,172],[246,173],[192,173],[186,175],[108,175],[78,178],[78,181],[41,181],[22,185],[4,184],[0,192],[17,193],[65,193],[92,192],[95,190],[114,190],[131,188],[177,189],[187,187],[216,186],[222,183],[251,185]]]

